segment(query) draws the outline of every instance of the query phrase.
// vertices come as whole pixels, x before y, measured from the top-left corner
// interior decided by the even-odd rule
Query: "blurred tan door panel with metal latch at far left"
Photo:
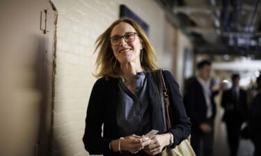
[[[0,155],[49,155],[55,20],[48,0],[0,1]]]

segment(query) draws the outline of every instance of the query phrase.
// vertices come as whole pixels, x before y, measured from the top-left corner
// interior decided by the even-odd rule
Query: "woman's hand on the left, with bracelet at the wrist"
[[[127,150],[132,154],[138,153],[145,146],[148,146],[150,139],[148,137],[140,137],[137,135],[129,135],[120,141],[120,150]],[[114,152],[118,152],[119,139],[111,141],[111,148]]]

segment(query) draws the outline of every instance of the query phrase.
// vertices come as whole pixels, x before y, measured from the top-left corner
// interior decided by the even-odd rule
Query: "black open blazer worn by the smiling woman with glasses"
[[[152,76],[148,74],[148,96],[149,111],[152,128],[159,130],[159,134],[164,133],[164,121],[162,117],[161,105],[157,96],[157,89]],[[175,126],[169,130],[174,135],[173,148],[190,134],[191,123],[187,117],[180,91],[176,81],[169,71],[163,72],[168,89],[168,96],[171,101],[173,111],[173,123]],[[118,127],[116,122],[116,107],[118,99],[118,79],[100,78],[93,86],[88,103],[86,115],[86,128],[84,132],[84,146],[90,155],[119,155],[109,149],[109,143],[113,139],[118,139]],[[103,125],[103,132],[102,132]],[[102,137],[103,133],[103,137]]]

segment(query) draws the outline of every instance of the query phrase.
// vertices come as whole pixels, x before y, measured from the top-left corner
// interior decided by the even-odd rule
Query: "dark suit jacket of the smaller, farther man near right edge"
[[[246,120],[247,115],[247,104],[246,104],[246,91],[239,89],[239,103],[236,104],[232,98],[232,89],[228,89],[223,92],[221,105],[225,108],[225,114],[223,116],[223,121],[226,122],[243,122]],[[233,105],[233,110],[226,110],[228,105]]]

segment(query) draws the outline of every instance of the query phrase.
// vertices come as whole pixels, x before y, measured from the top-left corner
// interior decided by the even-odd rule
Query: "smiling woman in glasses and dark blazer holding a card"
[[[187,139],[191,123],[169,71],[163,75],[175,126],[164,130],[152,76],[152,71],[158,69],[155,51],[141,26],[132,19],[118,19],[96,44],[99,79],[90,94],[83,138],[90,155],[157,155],[165,146],[174,148]],[[150,130],[159,133],[143,136]]]

